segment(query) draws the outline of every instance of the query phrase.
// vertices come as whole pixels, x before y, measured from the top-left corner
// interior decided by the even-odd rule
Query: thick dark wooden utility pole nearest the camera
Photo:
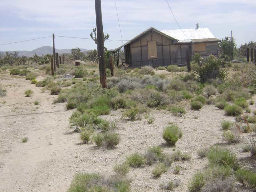
[[[104,51],[104,36],[101,14],[101,0],[95,0],[96,28],[97,28],[97,49],[100,68],[100,81],[102,88],[107,88],[107,75]]]

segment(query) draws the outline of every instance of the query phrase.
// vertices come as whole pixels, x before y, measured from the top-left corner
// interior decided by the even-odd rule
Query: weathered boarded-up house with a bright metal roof
[[[131,67],[186,65],[187,52],[203,57],[218,56],[218,42],[208,28],[159,31],[148,28],[138,36],[112,51],[116,66]],[[124,50],[122,50],[124,48]]]

